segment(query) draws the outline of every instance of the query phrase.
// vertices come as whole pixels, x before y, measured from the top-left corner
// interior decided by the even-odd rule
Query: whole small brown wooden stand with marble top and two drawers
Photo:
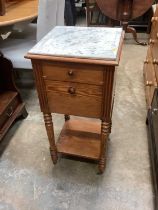
[[[98,46],[98,42],[93,42],[92,39],[89,39],[89,36],[93,36],[93,39],[98,37],[98,33],[99,35],[102,33],[101,37],[103,35],[108,36],[107,34],[110,32],[108,33],[108,29],[104,28],[102,29],[103,33],[100,29],[98,31],[97,28],[56,27],[52,30],[52,35],[48,36],[48,40],[47,38],[41,40],[37,45],[37,48],[40,47],[36,49],[35,46],[35,50],[27,54],[27,58],[30,58],[33,64],[41,111],[44,115],[54,164],[57,163],[57,154],[61,153],[96,160],[99,162],[99,172],[103,173],[104,171],[107,139],[111,132],[115,66],[119,63],[123,42],[123,34],[121,29],[119,30],[119,45],[117,46],[116,40],[111,40],[113,44],[116,44],[117,49],[117,55],[114,59],[108,57],[109,53],[107,53],[107,58],[103,53],[105,58],[100,57],[100,59],[86,54],[89,52],[89,48],[86,49],[87,46],[93,45],[93,49]],[[97,36],[95,31],[97,31]],[[60,40],[60,37],[55,36],[53,32],[54,34],[60,32],[62,39]],[[86,33],[88,33],[88,36]],[[78,36],[81,36],[80,39],[88,44],[82,45],[85,50],[81,50],[82,41],[78,40]],[[71,37],[71,41],[69,37]],[[69,41],[66,41],[67,38]],[[51,46],[50,44],[47,45],[46,40],[52,43]],[[55,50],[53,43],[58,46],[57,54],[53,52]],[[77,51],[77,53],[81,57],[76,54],[76,51],[72,54],[74,49],[78,49],[77,43],[80,46],[80,51],[82,51],[81,54],[80,51]],[[105,44],[102,44],[102,46],[106,46]],[[64,45],[66,45],[64,47],[66,52],[63,53]],[[71,49],[72,46],[73,49]],[[99,44],[98,53],[101,52],[100,46]],[[48,49],[49,47],[51,49]],[[90,49],[92,50],[92,47]],[[47,50],[49,55],[47,55]],[[86,53],[84,53],[85,51]],[[63,53],[63,55],[58,55],[58,53]],[[110,53],[113,52],[110,51]],[[84,57],[85,54],[87,57]],[[51,113],[65,114],[66,122],[57,143],[54,139]],[[69,115],[98,118],[101,120],[101,125],[93,120],[73,120],[70,119]]]

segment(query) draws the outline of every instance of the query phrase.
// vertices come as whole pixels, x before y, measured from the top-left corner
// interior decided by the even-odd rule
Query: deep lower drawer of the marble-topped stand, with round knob
[[[101,117],[102,86],[45,81],[51,112],[84,117]]]

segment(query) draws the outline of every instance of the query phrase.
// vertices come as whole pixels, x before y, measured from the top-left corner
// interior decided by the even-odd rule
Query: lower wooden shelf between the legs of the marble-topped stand
[[[68,120],[57,142],[58,153],[98,160],[101,123],[90,120]]]

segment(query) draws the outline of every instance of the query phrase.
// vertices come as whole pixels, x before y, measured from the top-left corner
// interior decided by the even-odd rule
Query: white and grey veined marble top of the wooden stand
[[[56,26],[29,53],[116,60],[121,33],[122,28]]]

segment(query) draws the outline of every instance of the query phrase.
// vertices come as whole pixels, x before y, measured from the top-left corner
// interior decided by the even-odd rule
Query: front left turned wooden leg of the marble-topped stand
[[[45,122],[47,135],[49,139],[49,144],[50,144],[50,154],[51,154],[53,163],[56,164],[58,157],[57,157],[57,149],[55,145],[52,115],[51,113],[47,113],[47,114],[43,113],[43,116],[44,116],[44,122]]]

